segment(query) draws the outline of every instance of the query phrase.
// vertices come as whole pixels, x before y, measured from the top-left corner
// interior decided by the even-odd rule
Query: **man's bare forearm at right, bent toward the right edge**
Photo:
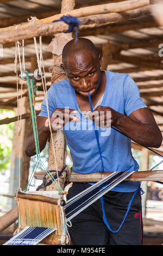
[[[142,124],[117,112],[115,127],[134,142],[145,147],[159,148],[161,145],[162,135],[156,125]]]

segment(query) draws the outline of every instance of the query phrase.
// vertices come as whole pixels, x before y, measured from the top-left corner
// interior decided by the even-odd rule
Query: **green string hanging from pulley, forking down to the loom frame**
[[[35,112],[35,106],[34,106],[34,99],[35,99],[34,93],[37,90],[37,86],[34,86],[34,82],[35,82],[34,79],[31,77],[29,78],[29,72],[26,72],[26,75],[27,75],[27,86],[28,86],[28,94],[29,94],[30,111],[31,111],[31,115],[32,115],[32,125],[33,125],[33,133],[34,133],[35,151],[36,151],[36,155],[37,155],[37,161],[35,163],[34,169],[32,171],[32,174],[30,175],[26,190],[24,190],[24,192],[29,191],[29,186],[32,182],[34,173],[35,173],[38,165],[41,164],[43,169],[45,169],[46,174],[49,176],[49,178],[51,178],[53,184],[57,187],[58,193],[60,194],[60,191],[63,191],[62,188],[59,186],[58,182],[53,178],[53,175],[51,174],[51,172],[49,172],[49,170],[47,169],[45,164],[41,161],[40,147],[39,147],[39,136],[38,136],[38,132],[37,132],[37,123],[36,123],[36,112]]]

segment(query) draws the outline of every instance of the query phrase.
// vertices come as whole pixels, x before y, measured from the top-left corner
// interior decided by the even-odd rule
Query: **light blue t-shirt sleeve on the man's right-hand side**
[[[124,95],[124,112],[126,115],[130,115],[133,111],[147,107],[140,97],[140,92],[134,80],[127,76],[123,87]]]

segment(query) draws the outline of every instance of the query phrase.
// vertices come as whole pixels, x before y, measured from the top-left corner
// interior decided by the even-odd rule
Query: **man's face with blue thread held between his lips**
[[[89,51],[70,54],[64,69],[71,86],[80,95],[87,97],[96,94],[101,83],[101,56],[93,56]]]

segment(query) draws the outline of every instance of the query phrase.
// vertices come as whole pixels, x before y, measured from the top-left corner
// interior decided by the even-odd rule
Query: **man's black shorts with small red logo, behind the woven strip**
[[[74,182],[68,191],[67,200],[91,186]],[[126,214],[134,192],[109,191],[104,198],[105,215],[112,230],[117,230]],[[101,200],[96,200],[71,220],[68,228],[72,245],[142,245],[141,195],[136,193],[120,231],[112,233],[103,221]]]

